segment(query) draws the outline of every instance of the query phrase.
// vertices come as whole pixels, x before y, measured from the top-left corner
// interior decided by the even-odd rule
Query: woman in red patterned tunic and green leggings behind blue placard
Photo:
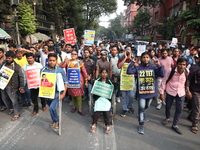
[[[78,113],[82,116],[85,116],[85,112],[82,110],[82,96],[84,96],[84,84],[88,85],[87,82],[87,72],[84,66],[84,63],[78,60],[78,52],[76,50],[71,51],[71,59],[65,59],[64,63],[61,63],[60,67],[65,68],[68,71],[68,68],[80,69],[80,87],[79,88],[69,88],[68,94],[72,97],[72,113],[76,112],[76,104],[78,103]]]

